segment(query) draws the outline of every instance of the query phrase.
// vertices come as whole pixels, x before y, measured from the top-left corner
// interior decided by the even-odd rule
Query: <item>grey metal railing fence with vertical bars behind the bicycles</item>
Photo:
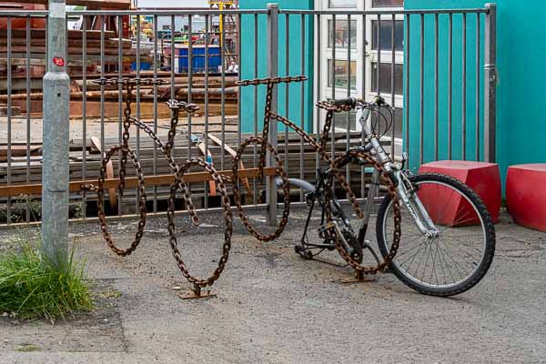
[[[261,132],[263,90],[260,86],[243,90],[235,82],[243,77],[285,75],[309,79],[306,84],[279,87],[273,105],[317,138],[323,116],[313,108],[317,101],[379,94],[397,106],[383,142],[398,159],[402,150],[407,151],[411,167],[442,157],[495,160],[494,6],[307,11],[272,5],[263,10],[77,11],[67,15],[81,19],[82,28],[68,30],[66,42],[71,77],[70,180],[75,183],[71,217],[94,216],[94,197],[79,191],[77,184],[96,180],[101,157],[122,141],[126,95],[121,85],[94,84],[97,78],[167,80],[166,86],[136,86],[134,116],[166,136],[169,112],[164,102],[178,98],[197,103],[200,114],[187,116],[178,128],[174,156],[177,160],[207,156],[219,170],[231,168],[230,148],[237,149],[247,136]],[[142,35],[141,16],[152,19],[153,39]],[[47,12],[1,11],[0,18],[6,20],[5,33],[0,35],[0,41],[5,41],[0,62],[6,65],[0,81],[1,103],[5,104],[5,116],[0,116],[0,127],[5,130],[0,141],[0,205],[1,222],[9,225],[39,220],[35,215],[41,191],[40,89],[46,36],[45,30],[33,28],[33,21],[46,22]],[[132,18],[136,19],[134,37],[124,40],[121,35]],[[221,23],[222,32],[213,26],[213,19]],[[237,38],[231,38],[227,19],[235,23]],[[183,27],[175,36],[161,37],[165,30],[158,29],[159,24],[175,31],[180,24]],[[188,41],[177,42],[178,35]],[[462,46],[457,45],[456,36],[461,37]],[[227,38],[231,39],[231,50],[225,46]],[[430,49],[432,62],[427,57]],[[447,56],[442,56],[444,53]],[[469,63],[470,55],[475,62]],[[467,104],[470,97],[475,100],[470,103],[472,110]],[[336,116],[332,130],[332,155],[361,143],[353,113]],[[156,177],[147,181],[149,209],[160,212],[172,181],[167,161],[138,128],[131,133],[130,142],[145,175]],[[313,178],[320,161],[298,136],[278,130],[276,123],[269,136],[284,158],[289,176]],[[475,152],[467,153],[470,148]],[[248,168],[258,167],[257,151],[249,150],[244,163]],[[115,159],[112,177],[116,177],[118,165]],[[359,197],[365,197],[366,192],[363,172],[360,167],[347,169]],[[264,207],[264,203],[277,200],[275,189],[267,188],[265,182],[251,179],[250,184],[249,207]],[[197,207],[214,210],[218,206],[207,181],[195,188]],[[294,196],[295,200],[301,198],[301,194]],[[136,191],[126,192],[123,198],[110,196],[110,202],[112,217],[131,216],[138,210]],[[276,204],[269,205],[270,217],[274,217]]]

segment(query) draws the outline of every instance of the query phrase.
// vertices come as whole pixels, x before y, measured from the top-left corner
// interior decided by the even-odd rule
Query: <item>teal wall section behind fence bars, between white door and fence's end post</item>
[[[406,0],[407,9],[482,7],[478,0]],[[435,15],[425,15],[424,37],[424,148],[425,163],[434,156],[434,21]],[[451,113],[451,159],[462,158],[462,15],[453,15],[452,53],[452,113]],[[480,34],[483,39],[484,16],[480,18]],[[476,15],[467,15],[467,58],[466,58],[466,158],[477,160],[483,157],[483,107],[480,107],[480,156],[476,155]],[[420,164],[420,15],[410,15],[410,167]],[[439,15],[439,159],[449,157],[449,15]],[[483,65],[483,42],[480,46],[480,65]],[[480,89],[483,89],[483,66],[480,66]],[[406,77],[405,77],[406,79]],[[483,92],[480,92],[483,106]]]

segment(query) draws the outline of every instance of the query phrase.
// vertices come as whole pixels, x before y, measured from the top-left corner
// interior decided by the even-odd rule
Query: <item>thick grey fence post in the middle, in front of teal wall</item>
[[[268,76],[278,75],[278,4],[268,4]],[[273,88],[271,98],[271,113],[277,113],[277,87]],[[269,144],[277,149],[278,124],[273,121],[269,125]],[[268,157],[268,166],[274,163],[271,156]],[[277,225],[277,185],[273,177],[268,177],[266,185],[266,203],[268,204],[268,223],[271,226]]]

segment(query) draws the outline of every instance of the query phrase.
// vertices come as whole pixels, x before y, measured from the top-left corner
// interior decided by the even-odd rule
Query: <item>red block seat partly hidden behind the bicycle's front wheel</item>
[[[459,179],[480,196],[481,200],[490,212],[493,222],[499,221],[501,211],[501,173],[499,166],[494,163],[470,162],[460,160],[441,160],[431,162],[420,167],[420,173],[441,173],[450,177]],[[427,191],[421,188],[420,198],[426,207]],[[432,192],[432,191],[430,191]],[[434,187],[434,195],[430,198],[438,198],[438,194],[445,194],[447,205],[442,207],[442,221],[438,220],[439,214],[434,211],[429,212],[430,217],[443,225],[461,226],[475,225],[479,223],[478,216],[475,219],[469,219],[470,204],[463,197],[451,198],[451,190],[448,187]],[[438,206],[438,204],[430,204]],[[445,211],[445,212],[444,212]],[[462,219],[461,217],[465,217]],[[459,221],[464,220],[464,223]]]

